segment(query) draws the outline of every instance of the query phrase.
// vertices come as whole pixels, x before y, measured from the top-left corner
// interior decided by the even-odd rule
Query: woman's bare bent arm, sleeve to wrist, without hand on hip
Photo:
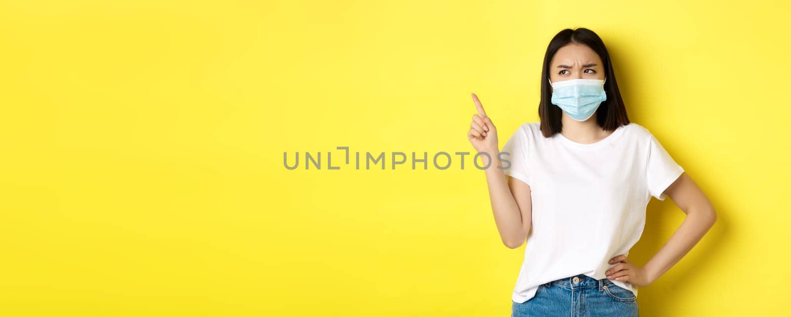
[[[717,213],[709,198],[686,172],[665,190],[665,194],[687,213],[687,217],[668,242],[643,266],[649,284],[687,255],[717,221]]]

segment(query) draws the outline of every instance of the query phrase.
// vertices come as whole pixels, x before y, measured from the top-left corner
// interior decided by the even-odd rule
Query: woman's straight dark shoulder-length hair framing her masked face
[[[547,53],[544,55],[543,69],[541,70],[541,100],[539,101],[539,119],[541,120],[541,133],[549,138],[562,130],[562,110],[551,103],[552,92],[549,85],[549,72],[552,57],[561,47],[569,43],[581,43],[590,47],[599,55],[604,63],[604,92],[607,93],[607,100],[604,100],[599,108],[596,109],[596,122],[604,130],[615,130],[619,126],[629,124],[626,116],[626,107],[621,99],[621,92],[618,90],[618,82],[615,81],[615,71],[612,70],[612,61],[607,54],[604,42],[595,32],[587,28],[566,28],[558,32],[547,46]]]

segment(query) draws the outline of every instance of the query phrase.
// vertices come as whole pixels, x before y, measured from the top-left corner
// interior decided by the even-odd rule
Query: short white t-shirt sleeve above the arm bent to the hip
[[[651,135],[649,145],[648,165],[646,166],[646,178],[648,179],[648,190],[653,197],[664,200],[667,196],[664,190],[676,181],[684,172],[684,169],[676,164],[676,160],[659,143],[659,140]]]

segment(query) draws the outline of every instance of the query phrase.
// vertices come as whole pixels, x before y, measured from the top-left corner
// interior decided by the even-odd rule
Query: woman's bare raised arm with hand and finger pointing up
[[[472,146],[480,152],[488,153],[483,158],[483,166],[486,168],[486,183],[489,187],[489,200],[494,213],[494,222],[497,224],[500,239],[506,247],[515,249],[520,247],[527,239],[530,231],[532,219],[532,202],[530,199],[530,187],[527,183],[519,179],[508,177],[500,168],[500,160],[492,160],[499,157],[497,127],[486,116],[483,105],[478,96],[472,94],[478,115],[472,116],[470,130],[467,131]],[[493,162],[490,164],[490,160]]]

